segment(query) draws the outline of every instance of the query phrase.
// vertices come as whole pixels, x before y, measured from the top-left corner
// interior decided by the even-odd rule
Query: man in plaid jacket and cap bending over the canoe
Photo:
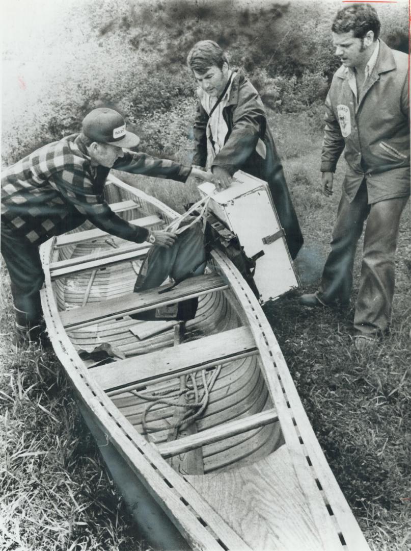
[[[39,339],[40,289],[44,282],[39,246],[90,220],[97,228],[137,243],[171,247],[176,235],[129,224],[108,206],[103,188],[111,168],[185,182],[190,174],[212,175],[170,160],[132,153],[139,137],[124,118],[100,107],[83,120],[80,134],[45,145],[2,174],[1,252],[8,268],[16,317],[16,342]]]

